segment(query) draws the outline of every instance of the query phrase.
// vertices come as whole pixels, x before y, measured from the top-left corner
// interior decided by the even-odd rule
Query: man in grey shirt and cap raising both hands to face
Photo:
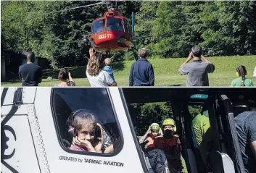
[[[188,63],[192,58],[194,58],[194,61]],[[178,69],[181,75],[188,75],[186,86],[209,86],[208,73],[214,72],[214,70],[214,64],[202,56],[200,46],[193,46],[189,57]]]

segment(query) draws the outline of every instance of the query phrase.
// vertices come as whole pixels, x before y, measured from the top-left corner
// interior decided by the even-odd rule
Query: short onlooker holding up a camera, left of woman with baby
[[[58,78],[60,83],[56,84],[55,87],[75,86],[75,81],[71,77],[71,74],[67,68],[60,69]]]

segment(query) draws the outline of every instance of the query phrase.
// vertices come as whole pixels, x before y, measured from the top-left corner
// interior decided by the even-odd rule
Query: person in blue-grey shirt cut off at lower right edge
[[[244,168],[256,172],[256,111],[240,111],[234,120]]]

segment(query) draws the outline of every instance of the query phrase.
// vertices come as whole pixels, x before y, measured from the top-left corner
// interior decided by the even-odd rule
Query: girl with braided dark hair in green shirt
[[[239,65],[236,68],[236,76],[238,78],[234,79],[231,83],[231,86],[239,87],[239,86],[253,86],[252,80],[247,79],[245,76],[247,75],[247,69],[243,65]]]

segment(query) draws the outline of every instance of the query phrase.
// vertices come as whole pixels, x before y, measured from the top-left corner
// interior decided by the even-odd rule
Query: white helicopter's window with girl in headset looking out
[[[54,88],[51,107],[65,151],[116,154],[123,147],[107,88]]]

